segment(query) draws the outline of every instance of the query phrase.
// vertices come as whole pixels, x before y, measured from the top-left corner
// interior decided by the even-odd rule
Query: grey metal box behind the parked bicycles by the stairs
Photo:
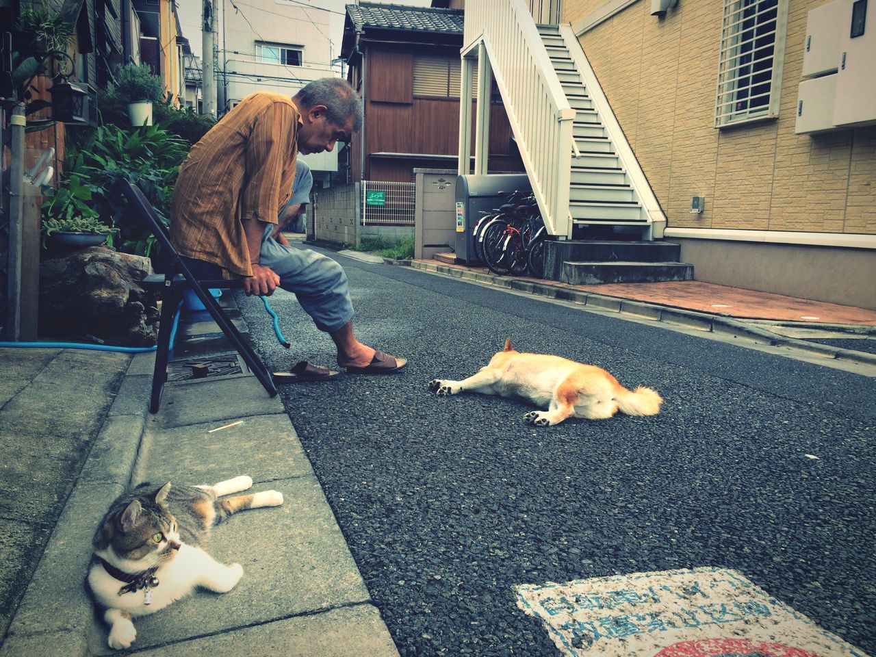
[[[477,220],[492,214],[505,203],[508,194],[532,187],[526,173],[459,176],[456,179],[456,261],[477,262],[473,233]]]

